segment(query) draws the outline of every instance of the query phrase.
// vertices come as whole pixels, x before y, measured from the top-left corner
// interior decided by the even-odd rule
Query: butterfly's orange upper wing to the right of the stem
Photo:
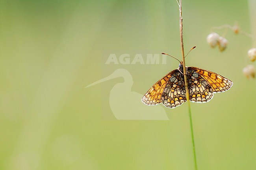
[[[188,67],[187,70],[193,70],[197,72],[204,80],[210,84],[213,92],[227,91],[233,85],[233,82],[217,73],[208,71],[197,67]]]

